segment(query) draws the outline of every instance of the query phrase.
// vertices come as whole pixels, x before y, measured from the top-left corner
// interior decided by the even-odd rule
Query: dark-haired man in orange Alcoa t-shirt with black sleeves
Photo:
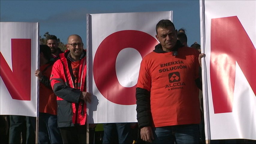
[[[136,87],[141,139],[152,143],[199,143],[199,52],[177,40],[170,20],[156,25],[160,44],[140,65]]]

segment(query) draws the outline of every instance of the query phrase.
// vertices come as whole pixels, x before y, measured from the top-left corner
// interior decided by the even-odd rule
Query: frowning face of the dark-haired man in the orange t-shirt
[[[156,38],[166,52],[170,52],[177,42],[177,30],[173,26],[168,26],[166,29],[158,28]]]

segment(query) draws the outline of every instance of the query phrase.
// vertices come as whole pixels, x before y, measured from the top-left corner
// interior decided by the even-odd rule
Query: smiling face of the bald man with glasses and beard
[[[83,46],[79,46],[78,44],[83,43],[82,39],[77,35],[72,35],[68,39],[68,44],[66,44],[66,47],[68,50],[70,50],[71,57],[74,59],[80,59],[80,56],[83,52]],[[72,46],[71,44],[77,44],[77,46]]]

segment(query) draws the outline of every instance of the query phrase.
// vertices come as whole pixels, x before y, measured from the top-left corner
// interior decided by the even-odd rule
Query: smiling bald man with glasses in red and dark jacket
[[[86,51],[79,35],[70,35],[66,47],[50,77],[57,95],[58,128],[63,143],[86,143],[86,102],[91,103],[86,92]]]

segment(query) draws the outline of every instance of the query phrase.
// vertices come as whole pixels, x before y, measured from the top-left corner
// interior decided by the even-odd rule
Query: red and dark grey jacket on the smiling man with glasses
[[[75,88],[71,61],[67,59],[70,51],[61,53],[60,59],[53,64],[50,77],[51,86],[57,95],[58,127],[71,127],[86,123],[86,102],[80,99],[82,91],[86,91],[86,51],[80,60],[78,88]]]

